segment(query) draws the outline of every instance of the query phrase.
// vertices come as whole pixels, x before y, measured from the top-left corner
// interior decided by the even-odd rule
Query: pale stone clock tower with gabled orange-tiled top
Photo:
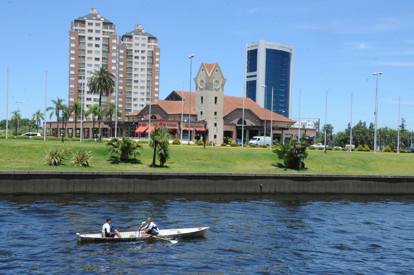
[[[195,111],[197,121],[207,121],[207,140],[216,145],[223,143],[224,84],[219,63],[201,63],[195,83]]]

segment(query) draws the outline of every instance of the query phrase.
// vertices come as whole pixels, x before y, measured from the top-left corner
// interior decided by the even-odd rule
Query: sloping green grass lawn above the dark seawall
[[[79,168],[43,165],[42,157],[50,147],[69,147],[92,151],[94,167]],[[343,152],[308,150],[308,170],[277,167],[277,154],[263,148],[171,146],[171,158],[164,167],[149,168],[154,150],[143,145],[141,155],[133,164],[114,163],[106,143],[0,139],[0,171],[157,171],[217,173],[291,173],[291,174],[361,174],[414,175],[414,153]],[[69,163],[72,154],[68,154]],[[158,159],[156,164],[159,164]]]

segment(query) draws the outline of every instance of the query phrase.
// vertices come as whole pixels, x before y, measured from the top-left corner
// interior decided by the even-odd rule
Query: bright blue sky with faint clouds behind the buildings
[[[413,1],[16,1],[0,11],[0,119],[17,110],[31,118],[51,99],[68,96],[70,21],[95,7],[116,24],[118,36],[142,24],[161,46],[160,99],[190,89],[201,62],[218,62],[224,94],[243,96],[245,46],[259,39],[294,46],[292,117],[320,118],[334,132],[351,118],[374,121],[378,77],[378,127],[397,128],[400,118],[414,128]],[[116,5],[114,5],[116,4]],[[192,91],[195,86],[193,82]],[[49,114],[47,114],[48,118]],[[55,120],[55,118],[53,118]]]

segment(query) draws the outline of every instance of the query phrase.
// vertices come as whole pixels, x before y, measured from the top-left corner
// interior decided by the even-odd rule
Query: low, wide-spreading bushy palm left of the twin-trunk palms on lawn
[[[122,140],[116,140],[115,142],[109,141],[106,145],[108,147],[109,154],[120,155],[120,162],[129,162],[130,156],[136,156],[141,154],[140,149],[142,145],[131,140],[129,137],[122,137]]]

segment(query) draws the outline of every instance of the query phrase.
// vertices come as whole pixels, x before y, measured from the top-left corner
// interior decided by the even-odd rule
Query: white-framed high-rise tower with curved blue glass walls
[[[288,118],[292,116],[293,50],[266,40],[246,43],[245,96]]]

